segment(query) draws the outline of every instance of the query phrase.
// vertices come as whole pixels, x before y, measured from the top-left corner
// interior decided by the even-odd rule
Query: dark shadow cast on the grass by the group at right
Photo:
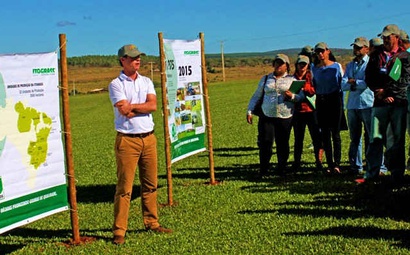
[[[285,201],[275,203],[276,209],[243,210],[239,214],[282,214],[335,219],[390,218],[410,222],[410,180],[406,176],[401,185],[393,185],[389,176],[381,177],[377,184],[358,185],[356,176],[318,175],[312,169],[286,177],[269,177],[266,183],[242,187],[252,193],[286,191],[289,194],[308,194],[307,202]],[[340,235],[348,238],[386,239],[399,242],[401,248],[410,249],[410,230],[390,230],[377,227],[343,226],[317,231],[292,232],[287,235]]]

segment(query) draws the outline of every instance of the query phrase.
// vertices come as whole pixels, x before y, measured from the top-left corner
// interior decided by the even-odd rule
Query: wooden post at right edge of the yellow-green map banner
[[[71,142],[71,124],[70,124],[70,108],[68,95],[68,77],[67,77],[67,48],[65,34],[59,35],[60,39],[60,75],[63,97],[63,121],[64,121],[64,137],[65,137],[65,153],[67,162],[67,179],[68,179],[68,196],[70,201],[70,216],[71,227],[73,230],[74,243],[80,243],[80,230],[77,214],[77,191],[75,188],[74,163],[73,163],[73,148]]]

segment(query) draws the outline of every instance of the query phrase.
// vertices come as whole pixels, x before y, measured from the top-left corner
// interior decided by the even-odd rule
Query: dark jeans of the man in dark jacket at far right
[[[401,178],[404,175],[406,115],[407,106],[389,105],[372,108],[370,141],[366,151],[368,169],[365,178],[371,179],[379,175],[389,125],[394,139],[392,146],[386,149],[386,157],[389,158],[388,168],[394,178]]]

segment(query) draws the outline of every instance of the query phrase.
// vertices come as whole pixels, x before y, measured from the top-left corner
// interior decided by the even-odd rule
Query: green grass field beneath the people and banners
[[[4,233],[0,254],[410,254],[410,188],[381,185],[362,190],[353,176],[315,172],[309,135],[300,172],[285,178],[255,178],[256,123],[247,124],[245,116],[256,83],[209,86],[215,178],[220,183],[207,184],[207,152],[173,164],[174,205],[160,207],[159,213],[161,224],[174,233],[158,235],[143,230],[136,182],[123,246],[111,244],[116,177],[108,94],[71,97],[80,234],[95,240],[65,245],[72,231],[70,213],[63,212]],[[163,204],[168,197],[162,104],[158,103],[154,115],[158,200]],[[348,144],[348,133],[343,131],[344,166]]]

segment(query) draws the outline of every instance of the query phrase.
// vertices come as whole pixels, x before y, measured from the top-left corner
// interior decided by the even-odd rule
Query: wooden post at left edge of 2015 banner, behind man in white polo
[[[165,139],[165,161],[167,169],[167,183],[168,183],[168,205],[173,205],[172,198],[172,170],[171,170],[171,138],[168,127],[168,102],[167,102],[167,87],[166,87],[166,67],[165,67],[165,53],[164,53],[164,38],[162,33],[158,33],[159,52],[161,61],[161,90],[162,90],[162,111],[164,119],[164,139]]]

